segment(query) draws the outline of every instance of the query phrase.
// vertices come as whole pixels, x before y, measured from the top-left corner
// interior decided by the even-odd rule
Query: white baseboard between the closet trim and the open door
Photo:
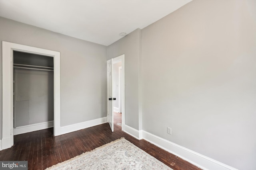
[[[85,129],[88,127],[100,125],[100,124],[108,122],[107,120],[108,120],[107,117],[102,117],[99,119],[93,119],[93,120],[84,121],[81,123],[76,123],[73,125],[63,126],[63,127],[60,127],[60,133],[63,135],[65,133],[70,133],[70,132],[78,131],[78,130]]]

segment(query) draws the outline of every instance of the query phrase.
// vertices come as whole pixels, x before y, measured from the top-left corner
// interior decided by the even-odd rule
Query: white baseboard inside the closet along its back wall
[[[20,126],[13,128],[13,135],[19,135],[22,133],[28,133],[33,131],[39,131],[42,129],[47,129],[53,127],[53,121],[46,121],[42,123],[35,123],[32,125]]]

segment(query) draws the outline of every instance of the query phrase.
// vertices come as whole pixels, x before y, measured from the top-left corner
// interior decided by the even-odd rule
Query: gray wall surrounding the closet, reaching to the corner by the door
[[[60,51],[61,126],[106,117],[106,46],[6,18],[0,18],[0,25],[1,42],[8,41]],[[0,74],[2,74],[2,48],[0,48]],[[0,89],[2,89],[2,78]],[[2,96],[2,90],[0,95]],[[0,107],[2,108],[2,98],[0,98]],[[2,109],[0,122],[2,128]]]

